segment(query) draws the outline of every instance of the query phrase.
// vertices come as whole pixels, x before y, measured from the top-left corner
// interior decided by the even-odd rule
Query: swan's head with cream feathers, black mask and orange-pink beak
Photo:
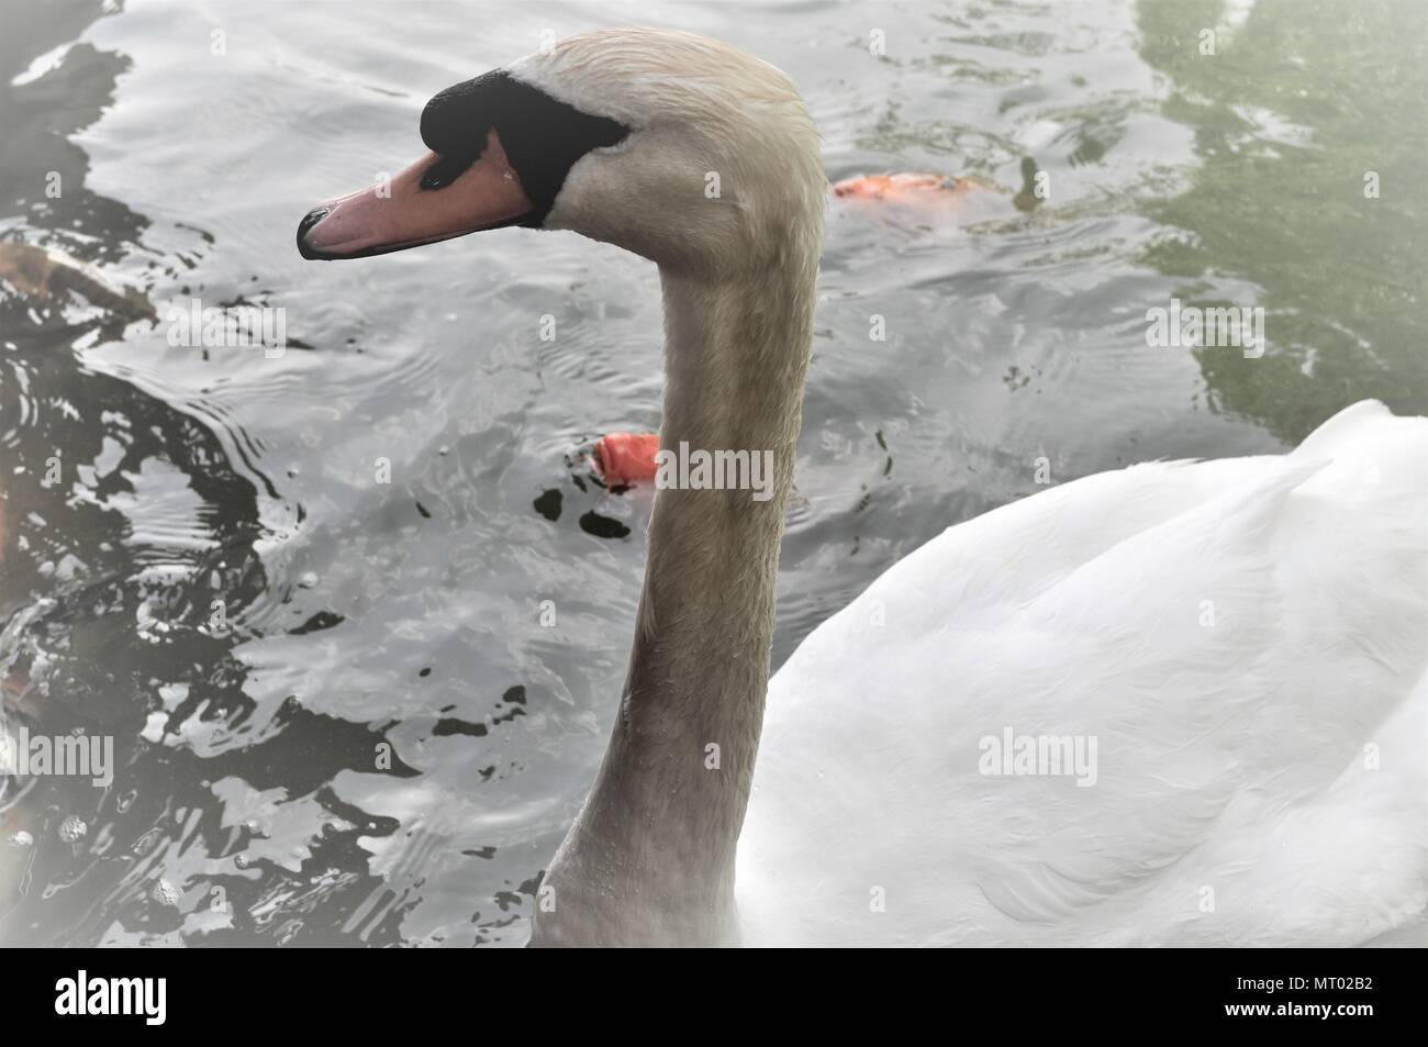
[[[570,37],[440,91],[428,153],[298,226],[307,259],[356,259],[504,226],[565,229],[673,271],[817,260],[818,134],[773,66],[671,30]]]

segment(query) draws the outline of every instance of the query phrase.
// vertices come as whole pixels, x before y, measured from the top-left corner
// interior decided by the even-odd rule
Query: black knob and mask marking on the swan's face
[[[580,157],[630,133],[621,123],[581,113],[510,73],[494,70],[447,87],[421,110],[421,140],[441,154],[421,177],[421,187],[441,189],[476,163],[491,127],[501,136],[506,157],[534,204],[520,221],[528,227],[544,224]]]

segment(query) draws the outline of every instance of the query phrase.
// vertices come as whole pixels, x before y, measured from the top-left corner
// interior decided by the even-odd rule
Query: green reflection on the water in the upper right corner
[[[1211,277],[1261,289],[1269,347],[1198,351],[1211,404],[1297,441],[1339,407],[1428,406],[1428,17],[1422,0],[1141,0],[1141,54],[1195,131],[1190,189],[1151,204],[1187,230],[1147,261],[1217,304]],[[1215,54],[1200,33],[1220,27]],[[1365,197],[1377,171],[1379,197]],[[1224,297],[1224,291],[1218,293]],[[1238,296],[1237,296],[1238,297]],[[1235,304],[1251,304],[1237,301]]]

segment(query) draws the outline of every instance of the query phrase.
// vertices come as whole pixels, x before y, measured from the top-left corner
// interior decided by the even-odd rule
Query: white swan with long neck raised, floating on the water
[[[1428,420],[1365,401],[1288,454],[1050,487],[905,557],[770,680],[827,199],[798,93],[610,30],[438,93],[421,136],[301,220],[304,257],[504,226],[635,251],[661,447],[773,456],[767,500],[655,496],[533,944],[1421,940]]]

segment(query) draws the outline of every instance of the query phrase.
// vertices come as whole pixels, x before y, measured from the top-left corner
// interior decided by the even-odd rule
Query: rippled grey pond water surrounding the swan
[[[0,0],[0,239],[160,317],[0,284],[6,717],[119,764],[4,780],[0,943],[524,941],[624,673],[648,500],[577,460],[657,426],[655,274],[517,230],[320,266],[293,229],[543,33],[757,51],[833,179],[1050,177],[971,226],[831,213],[775,661],[1037,457],[1425,409],[1419,0],[611,10]],[[191,297],[283,307],[287,354],[170,346]],[[1172,297],[1262,306],[1268,351],[1148,349]]]

